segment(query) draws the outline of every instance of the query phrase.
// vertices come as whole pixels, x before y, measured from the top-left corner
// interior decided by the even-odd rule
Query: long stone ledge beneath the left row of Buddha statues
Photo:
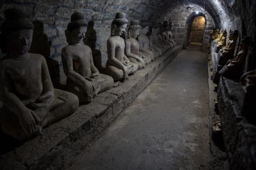
[[[129,80],[79,106],[73,115],[1,157],[0,169],[61,169],[87,147],[181,51],[177,46],[137,71]]]

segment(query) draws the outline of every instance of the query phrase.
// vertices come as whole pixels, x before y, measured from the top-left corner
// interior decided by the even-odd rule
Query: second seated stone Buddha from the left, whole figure
[[[83,41],[86,26],[82,13],[72,14],[65,31],[68,46],[62,49],[67,90],[78,96],[79,103],[90,102],[95,95],[110,89],[114,83],[113,78],[100,74],[94,66],[92,50]]]

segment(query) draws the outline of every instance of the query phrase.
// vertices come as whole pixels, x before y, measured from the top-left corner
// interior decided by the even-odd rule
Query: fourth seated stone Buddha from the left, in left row
[[[128,38],[125,40],[125,55],[131,62],[138,65],[138,69],[143,69],[146,64],[151,62],[151,58],[139,51],[140,45],[136,38],[140,35],[140,30],[141,26],[139,25],[139,21],[131,21],[131,26],[128,30]]]

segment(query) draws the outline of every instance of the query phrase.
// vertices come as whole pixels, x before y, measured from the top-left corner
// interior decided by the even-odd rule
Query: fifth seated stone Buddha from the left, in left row
[[[150,24],[150,23],[148,23],[148,24]],[[146,26],[146,24],[143,24],[143,23],[142,23],[142,25]],[[142,30],[145,30],[145,28]],[[159,53],[156,50],[154,50],[154,48],[151,48],[149,46],[149,38],[148,38],[148,36],[146,36],[145,33],[142,32],[142,30],[140,32],[140,35],[137,38],[137,40],[140,44],[140,52],[142,54],[144,54],[145,56],[149,55],[151,57],[151,59],[153,58],[153,60],[154,60],[155,58],[159,57]]]

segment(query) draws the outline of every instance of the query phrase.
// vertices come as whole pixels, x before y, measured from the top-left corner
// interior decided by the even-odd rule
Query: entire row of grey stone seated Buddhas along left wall
[[[92,50],[84,44],[87,22],[82,13],[71,15],[65,31],[68,46],[62,49],[63,70],[67,75],[67,91],[54,89],[45,58],[29,53],[34,25],[25,12],[5,10],[1,31],[6,57],[0,60],[1,130],[18,140],[41,133],[45,126],[76,112],[79,103],[90,102],[99,92],[118,86],[130,74],[143,69],[164,52],[174,47],[169,22],[156,35],[151,27],[147,37],[140,33],[139,21],[129,21],[118,12],[111,23],[107,41],[108,61],[101,74],[94,66]]]

